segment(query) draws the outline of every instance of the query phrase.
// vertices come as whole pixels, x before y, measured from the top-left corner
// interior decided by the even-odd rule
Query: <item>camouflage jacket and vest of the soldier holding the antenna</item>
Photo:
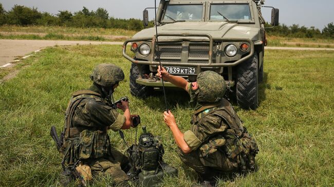
[[[226,99],[202,106],[195,111],[191,123],[183,138],[192,151],[198,151],[206,166],[224,168],[229,161],[232,170],[254,164],[256,142]]]

